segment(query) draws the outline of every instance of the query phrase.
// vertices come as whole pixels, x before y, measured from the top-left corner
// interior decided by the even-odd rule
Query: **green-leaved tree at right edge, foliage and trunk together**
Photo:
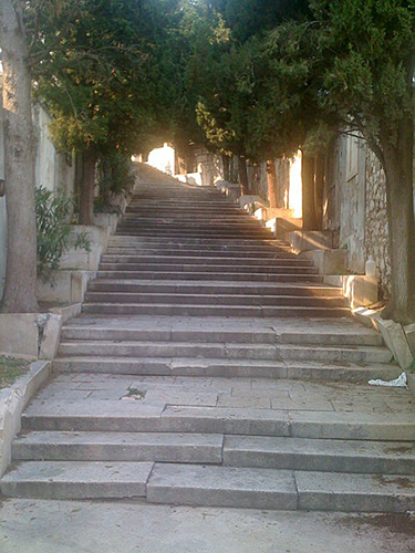
[[[315,0],[311,7],[326,60],[320,103],[364,136],[386,175],[392,293],[384,316],[409,323],[415,320],[415,3]]]

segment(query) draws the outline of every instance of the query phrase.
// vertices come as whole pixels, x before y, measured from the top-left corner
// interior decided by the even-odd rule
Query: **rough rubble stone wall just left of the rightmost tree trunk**
[[[386,180],[380,161],[372,150],[366,153],[366,258],[375,261],[383,296],[391,290],[391,259],[386,215]]]

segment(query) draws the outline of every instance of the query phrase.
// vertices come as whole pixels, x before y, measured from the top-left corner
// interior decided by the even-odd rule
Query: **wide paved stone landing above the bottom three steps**
[[[46,400],[68,399],[71,403],[77,399],[76,395],[71,398],[73,392],[80,392],[80,400],[84,404],[90,404],[94,399],[98,401],[98,397],[94,394],[103,392],[101,396],[103,401],[107,397],[117,405],[116,401],[128,393],[128,388],[145,393],[144,405],[151,406],[153,401],[157,404],[157,408],[160,401],[169,405],[193,405],[195,401],[207,405],[216,404],[218,397],[221,399],[220,403],[234,397],[236,400],[249,398],[252,404],[257,400],[258,407],[263,403],[273,401],[274,408],[290,410],[297,408],[303,410],[305,406],[310,411],[376,413],[380,408],[384,408],[385,413],[413,414],[415,419],[415,399],[407,389],[367,384],[270,378],[60,374],[43,388],[31,405],[39,408],[43,405],[48,407]],[[125,401],[122,400],[123,404]],[[143,401],[139,403],[142,404]],[[62,403],[62,408],[64,405]]]

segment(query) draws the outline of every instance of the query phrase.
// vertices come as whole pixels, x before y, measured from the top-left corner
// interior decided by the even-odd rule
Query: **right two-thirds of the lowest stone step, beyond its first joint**
[[[403,482],[409,486],[403,487]],[[415,477],[156,463],[147,501],[246,509],[406,512]]]

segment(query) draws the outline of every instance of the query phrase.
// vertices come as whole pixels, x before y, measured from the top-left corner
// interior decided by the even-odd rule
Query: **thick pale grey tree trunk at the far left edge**
[[[0,44],[3,64],[4,180],[8,251],[3,311],[33,313],[37,302],[35,137],[31,75],[22,14],[2,0]]]

